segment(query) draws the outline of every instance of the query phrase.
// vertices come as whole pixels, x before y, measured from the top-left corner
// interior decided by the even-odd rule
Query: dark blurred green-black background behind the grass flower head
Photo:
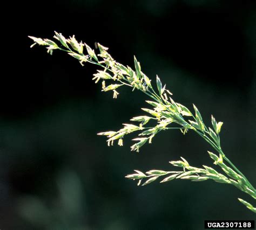
[[[119,62],[158,74],[174,99],[204,120],[224,122],[223,150],[255,178],[255,1],[10,1],[0,106],[1,229],[203,229],[204,220],[255,219],[233,186],[175,180],[137,187],[133,169],[171,169],[185,157],[212,165],[199,136],[165,131],[139,154],[107,147],[99,131],[142,115],[146,97],[123,88],[117,100],[62,52],[29,48],[27,36],[56,30],[110,47]],[[8,36],[7,36],[8,35]],[[8,41],[6,40],[8,39]],[[11,45],[10,45],[11,44]],[[6,69],[6,72],[4,71]],[[131,137],[132,138],[132,137]],[[248,198],[248,199],[247,199]]]

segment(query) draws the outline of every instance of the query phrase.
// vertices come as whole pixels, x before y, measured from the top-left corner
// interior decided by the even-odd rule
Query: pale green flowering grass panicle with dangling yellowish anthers
[[[221,149],[219,134],[223,122],[217,122],[212,116],[212,127],[207,127],[198,108],[193,104],[194,111],[190,111],[183,104],[174,101],[172,93],[166,88],[166,85],[163,85],[158,76],[156,76],[157,88],[154,89],[151,85],[151,80],[142,72],[136,57],[134,57],[134,69],[132,69],[130,66],[124,66],[114,60],[107,52],[108,48],[99,43],[97,44],[99,54],[96,55],[89,45],[82,41],[78,43],[75,36],[67,39],[61,33],[55,32],[55,36],[53,36],[55,41],[35,37],[29,38],[35,42],[32,46],[36,44],[46,46],[47,52],[50,54],[55,50],[61,50],[76,58],[81,65],[86,62],[97,65],[99,69],[97,73],[93,74],[92,80],[95,83],[101,81],[102,91],[112,91],[115,99],[119,94],[118,89],[123,86],[131,87],[132,91],[137,89],[149,96],[150,100],[146,101],[149,107],[142,108],[146,114],[133,117],[131,121],[135,123],[125,123],[123,128],[117,131],[105,131],[98,134],[107,137],[108,145],[113,145],[114,142],[117,142],[118,145],[122,146],[126,135],[137,132],[138,137],[133,139],[136,143],[131,146],[131,150],[139,152],[144,144],[151,144],[153,137],[160,131],[179,129],[185,135],[187,131],[192,130],[211,145],[217,155],[210,151],[208,151],[208,154],[213,159],[213,164],[218,165],[224,172],[222,174],[206,165],[203,165],[202,168],[191,166],[181,157],[179,161],[170,162],[173,166],[181,168],[180,171],[150,170],[143,173],[139,170],[134,170],[135,173],[127,175],[126,178],[138,180],[138,185],[142,186],[150,184],[158,178],[161,178],[160,183],[169,182],[173,179],[186,179],[193,182],[211,179],[214,182],[234,185],[239,190],[250,195],[254,200],[256,199],[254,187],[225,156]],[[154,126],[147,126],[149,121],[153,121]],[[256,208],[253,205],[240,198],[238,200],[256,213]]]

